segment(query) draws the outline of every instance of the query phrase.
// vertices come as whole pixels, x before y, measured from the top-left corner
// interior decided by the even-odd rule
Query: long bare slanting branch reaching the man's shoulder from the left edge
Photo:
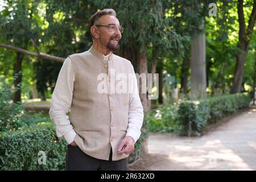
[[[26,49],[22,49],[22,48],[19,48],[19,47],[14,47],[14,46],[11,46],[11,45],[8,45],[8,44],[0,43],[0,46],[8,48],[8,49],[13,49],[14,51],[21,52],[21,53],[24,53],[26,55],[41,57],[41,58],[46,59],[46,60],[57,61],[57,62],[61,62],[61,63],[63,63],[64,60],[65,60],[64,57],[52,56],[52,55],[48,55],[48,54],[42,53],[42,52],[35,53],[35,52],[27,51]]]

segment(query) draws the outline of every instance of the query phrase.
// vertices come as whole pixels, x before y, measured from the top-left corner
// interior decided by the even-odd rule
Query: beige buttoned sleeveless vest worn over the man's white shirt
[[[118,154],[118,147],[126,135],[128,126],[129,93],[99,93],[102,85],[101,73],[110,79],[106,84],[116,86],[118,81],[110,75],[123,73],[129,77],[134,73],[130,61],[117,55],[110,55],[109,61],[93,47],[89,51],[69,56],[75,70],[73,100],[69,119],[77,135],[75,142],[85,154],[93,158],[109,160],[112,147],[112,160],[127,158]],[[102,75],[102,74],[101,74]],[[128,89],[127,89],[128,90]]]

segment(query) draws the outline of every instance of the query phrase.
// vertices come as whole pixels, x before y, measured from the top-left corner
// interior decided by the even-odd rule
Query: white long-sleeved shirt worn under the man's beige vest
[[[104,55],[104,60],[109,60],[109,55]],[[136,77],[135,77],[136,78]],[[49,116],[55,123],[56,135],[61,138],[64,137],[68,144],[72,143],[76,137],[76,132],[69,121],[67,113],[71,109],[73,97],[73,84],[75,82],[75,71],[71,59],[68,57],[60,70],[55,89],[52,94],[51,108]],[[130,94],[131,102],[129,104],[128,114],[128,128],[126,136],[130,136],[137,142],[141,135],[141,126],[143,122],[143,111],[139,109],[141,100],[138,94],[137,81],[133,81],[133,88],[137,92]]]

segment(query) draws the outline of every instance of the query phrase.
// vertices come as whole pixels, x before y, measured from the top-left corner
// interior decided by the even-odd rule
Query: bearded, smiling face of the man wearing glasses
[[[115,27],[119,27],[119,21],[115,16],[112,15],[104,15],[101,16],[100,21],[97,23],[97,26],[99,32],[98,40],[100,44],[110,51],[117,51],[119,48],[119,40],[122,38],[121,32],[118,28],[115,28],[115,30],[110,30],[109,27],[104,26],[110,26],[114,25]]]

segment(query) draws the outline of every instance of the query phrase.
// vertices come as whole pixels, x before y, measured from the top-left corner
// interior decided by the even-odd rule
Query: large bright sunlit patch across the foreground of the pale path
[[[253,142],[249,143],[250,146],[256,148],[256,144]],[[175,150],[187,151],[184,155],[176,155],[176,152],[172,152],[169,155],[169,159],[174,163],[183,163],[187,168],[195,168],[207,170],[207,169],[225,169],[225,168],[235,168],[237,170],[251,170],[251,168],[243,162],[240,156],[236,155],[229,148],[225,148],[221,144],[220,140],[209,140],[204,146],[201,146],[206,150],[194,150],[192,146],[174,146]],[[207,151],[209,148],[222,148],[221,150]],[[190,154],[192,153],[192,154]],[[225,167],[224,166],[228,166]]]

